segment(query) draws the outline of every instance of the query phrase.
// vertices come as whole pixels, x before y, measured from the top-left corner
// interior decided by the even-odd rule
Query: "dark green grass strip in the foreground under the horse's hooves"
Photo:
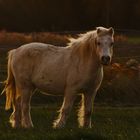
[[[9,112],[0,112],[0,140],[139,140],[140,107],[95,107],[92,129],[77,127],[76,111],[72,111],[66,127],[54,130],[58,106],[33,107],[33,129],[12,129],[8,123]]]

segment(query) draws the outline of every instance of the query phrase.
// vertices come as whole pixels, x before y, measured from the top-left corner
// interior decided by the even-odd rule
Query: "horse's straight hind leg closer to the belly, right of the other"
[[[21,125],[23,128],[33,127],[30,115],[30,100],[33,90],[25,87],[21,89]]]

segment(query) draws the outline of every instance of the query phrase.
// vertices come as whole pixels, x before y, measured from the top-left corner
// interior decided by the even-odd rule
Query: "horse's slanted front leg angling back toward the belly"
[[[69,112],[72,108],[73,102],[75,100],[75,92],[73,90],[67,89],[64,96],[64,101],[60,109],[59,116],[57,120],[53,123],[53,128],[62,128],[68,118]]]

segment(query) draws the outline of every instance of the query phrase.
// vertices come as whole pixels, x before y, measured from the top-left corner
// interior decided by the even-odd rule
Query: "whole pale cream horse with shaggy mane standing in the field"
[[[92,103],[103,79],[103,65],[111,63],[114,29],[97,27],[71,38],[66,47],[29,43],[9,51],[5,84],[5,109],[13,109],[13,128],[33,127],[31,97],[39,89],[63,95],[54,128],[64,127],[77,95],[82,96],[78,111],[79,127],[91,128]]]

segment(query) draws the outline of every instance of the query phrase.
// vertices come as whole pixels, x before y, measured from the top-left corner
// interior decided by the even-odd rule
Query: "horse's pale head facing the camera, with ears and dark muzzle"
[[[114,30],[113,28],[97,27],[97,37],[95,40],[96,53],[103,65],[108,65],[111,62],[113,55]]]

